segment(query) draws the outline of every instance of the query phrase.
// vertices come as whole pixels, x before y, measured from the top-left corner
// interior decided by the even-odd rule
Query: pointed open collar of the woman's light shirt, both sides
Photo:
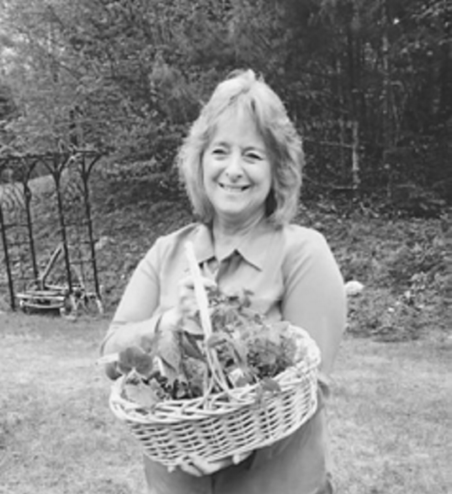
[[[261,221],[245,236],[236,251],[255,268],[262,270],[265,264],[266,251],[271,245],[271,239],[276,227],[267,220]],[[193,240],[196,259],[203,263],[215,257],[212,230],[206,225],[199,225]]]

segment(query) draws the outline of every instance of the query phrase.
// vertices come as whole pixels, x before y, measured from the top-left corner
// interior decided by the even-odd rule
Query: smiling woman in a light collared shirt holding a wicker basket
[[[291,225],[301,184],[301,140],[280,98],[251,70],[218,85],[193,124],[178,165],[200,222],[157,240],[125,290],[104,354],[169,334],[196,310],[184,245],[194,244],[205,284],[247,289],[270,320],[306,329],[330,373],[345,327],[343,280],[324,237]],[[116,377],[114,367],[108,369]],[[175,471],[145,456],[152,494],[332,492],[323,392],[294,434],[246,458],[193,461]],[[242,460],[242,461],[239,461]]]

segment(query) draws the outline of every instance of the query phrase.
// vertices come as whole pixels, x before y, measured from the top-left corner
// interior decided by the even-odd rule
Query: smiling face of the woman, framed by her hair
[[[247,225],[264,216],[271,163],[247,111],[231,109],[221,117],[202,165],[205,192],[217,220]]]

